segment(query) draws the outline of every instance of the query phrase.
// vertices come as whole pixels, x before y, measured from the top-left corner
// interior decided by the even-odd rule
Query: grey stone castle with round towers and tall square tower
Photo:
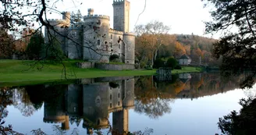
[[[109,16],[94,15],[94,9],[88,9],[83,20],[74,18],[70,12],[62,12],[62,20],[48,20],[59,34],[64,35],[52,33],[69,59],[109,62],[110,55],[116,54],[120,62],[134,64],[135,35],[129,32],[130,2],[114,0],[112,5],[113,29],[110,28]],[[45,41],[48,42],[47,37]]]

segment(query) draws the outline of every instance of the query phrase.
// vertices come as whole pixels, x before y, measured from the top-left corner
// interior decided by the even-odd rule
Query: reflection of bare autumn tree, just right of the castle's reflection
[[[135,94],[135,112],[144,113],[151,119],[158,119],[171,112],[169,103],[174,101],[172,94],[159,89],[153,76],[140,76],[135,83]]]

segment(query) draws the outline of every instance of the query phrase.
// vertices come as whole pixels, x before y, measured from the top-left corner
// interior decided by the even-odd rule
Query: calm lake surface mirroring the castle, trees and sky
[[[238,101],[254,94],[237,78],[219,73],[105,77],[69,84],[0,87],[5,126],[32,134],[212,135],[219,118],[240,110]],[[140,132],[139,132],[140,131]]]

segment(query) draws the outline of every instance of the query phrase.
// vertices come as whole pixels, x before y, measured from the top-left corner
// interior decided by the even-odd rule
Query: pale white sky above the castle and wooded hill
[[[204,21],[211,20],[209,8],[204,8],[201,0],[128,0],[130,2],[130,31],[135,25],[147,24],[158,20],[171,27],[169,34],[196,34],[204,37]],[[81,4],[82,2],[82,4]],[[83,16],[87,9],[94,9],[94,14],[110,16],[110,25],[113,23],[112,0],[65,0],[56,7],[59,11],[76,12],[80,9]],[[146,2],[146,8],[144,5]],[[140,12],[138,21],[137,18]],[[61,16],[52,14],[48,18],[61,19]],[[218,37],[214,35],[213,37]]]

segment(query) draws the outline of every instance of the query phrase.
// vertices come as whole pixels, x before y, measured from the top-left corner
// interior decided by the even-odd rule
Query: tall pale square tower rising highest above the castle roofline
[[[130,2],[126,0],[114,0],[114,29],[129,32],[130,31]]]

